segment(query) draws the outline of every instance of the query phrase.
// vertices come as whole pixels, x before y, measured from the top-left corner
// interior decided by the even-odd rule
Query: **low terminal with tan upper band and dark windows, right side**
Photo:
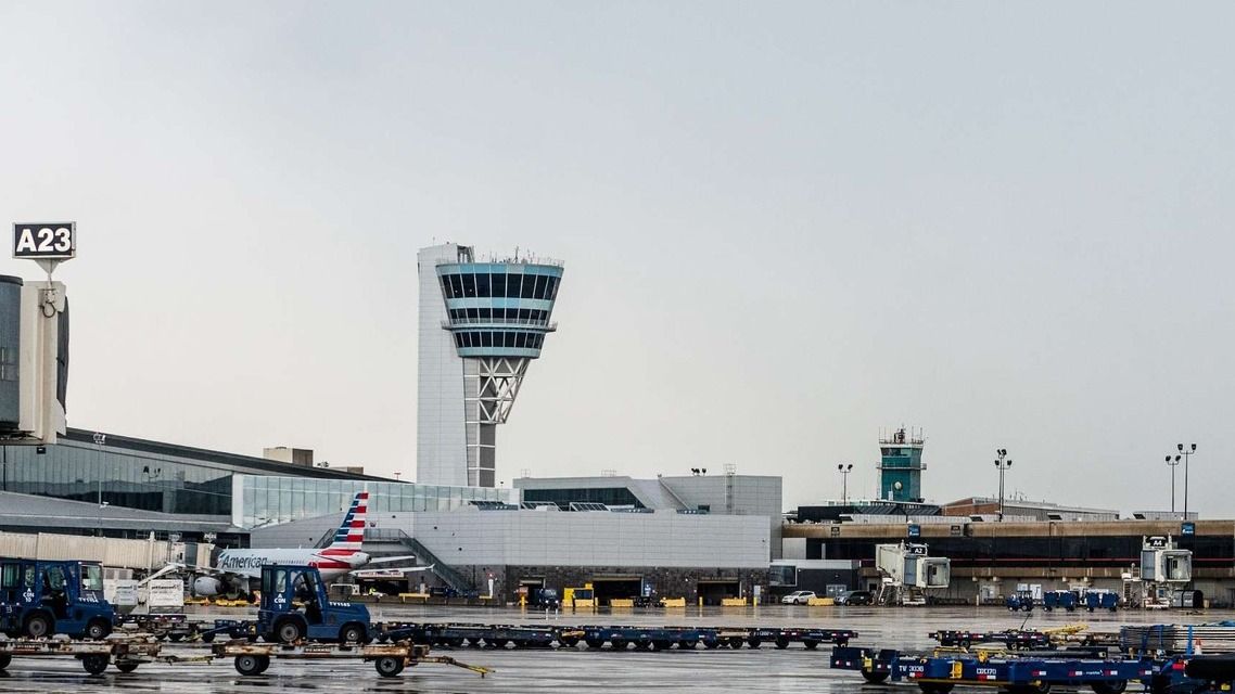
[[[1094,514],[1100,515],[1100,514]],[[877,588],[876,546],[926,545],[951,559],[951,587],[935,598],[972,603],[1015,593],[1100,588],[1132,595],[1140,588],[1141,548],[1167,537],[1193,553],[1191,588],[1213,606],[1235,605],[1235,521],[1031,516],[906,516],[825,522],[787,522],[784,558],[773,582],[779,592],[815,589],[823,575],[851,588]],[[814,574],[814,572],[820,572]]]

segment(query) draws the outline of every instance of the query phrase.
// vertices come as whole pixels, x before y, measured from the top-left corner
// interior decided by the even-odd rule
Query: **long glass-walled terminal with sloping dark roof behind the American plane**
[[[0,446],[4,509],[35,498],[22,508],[64,533],[143,538],[153,529],[159,538],[179,532],[203,542],[214,533],[219,545],[245,546],[248,529],[340,512],[363,489],[373,493],[374,511],[436,511],[517,496],[314,466],[311,452],[298,464],[79,429],[56,445]],[[56,520],[64,509],[74,511]],[[0,530],[37,527],[5,517],[0,512]]]

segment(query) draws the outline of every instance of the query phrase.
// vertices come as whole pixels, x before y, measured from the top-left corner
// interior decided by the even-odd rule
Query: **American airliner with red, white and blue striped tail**
[[[224,550],[219,553],[215,567],[185,567],[184,564],[169,564],[175,569],[191,568],[205,572],[193,580],[193,594],[201,596],[221,594],[249,594],[249,584],[257,583],[262,578],[264,564],[299,564],[317,567],[321,578],[330,583],[343,574],[363,578],[372,572],[358,571],[367,564],[380,564],[388,562],[400,562],[414,559],[406,557],[380,557],[374,559],[361,547],[364,542],[364,527],[367,525],[368,491],[358,491],[352,499],[352,506],[343,516],[343,522],[335,531],[335,538],[327,547],[320,550]],[[403,573],[427,571],[433,567],[398,568]]]

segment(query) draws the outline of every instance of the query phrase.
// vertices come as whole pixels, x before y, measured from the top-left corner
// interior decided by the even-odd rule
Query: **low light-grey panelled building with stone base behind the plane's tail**
[[[303,546],[338,516],[254,529],[254,547]],[[609,508],[572,501],[474,501],[456,510],[371,515],[367,550],[412,553],[461,592],[514,599],[520,585],[592,583],[610,598],[747,596],[767,585],[768,519],[674,509]]]

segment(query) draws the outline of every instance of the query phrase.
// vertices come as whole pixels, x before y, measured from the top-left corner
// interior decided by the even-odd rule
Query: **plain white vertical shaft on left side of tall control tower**
[[[458,246],[421,248],[417,301],[416,482],[467,485],[467,438],[463,412],[463,359],[442,328],[446,301],[437,264],[458,262]],[[398,316],[395,317],[398,320]]]

